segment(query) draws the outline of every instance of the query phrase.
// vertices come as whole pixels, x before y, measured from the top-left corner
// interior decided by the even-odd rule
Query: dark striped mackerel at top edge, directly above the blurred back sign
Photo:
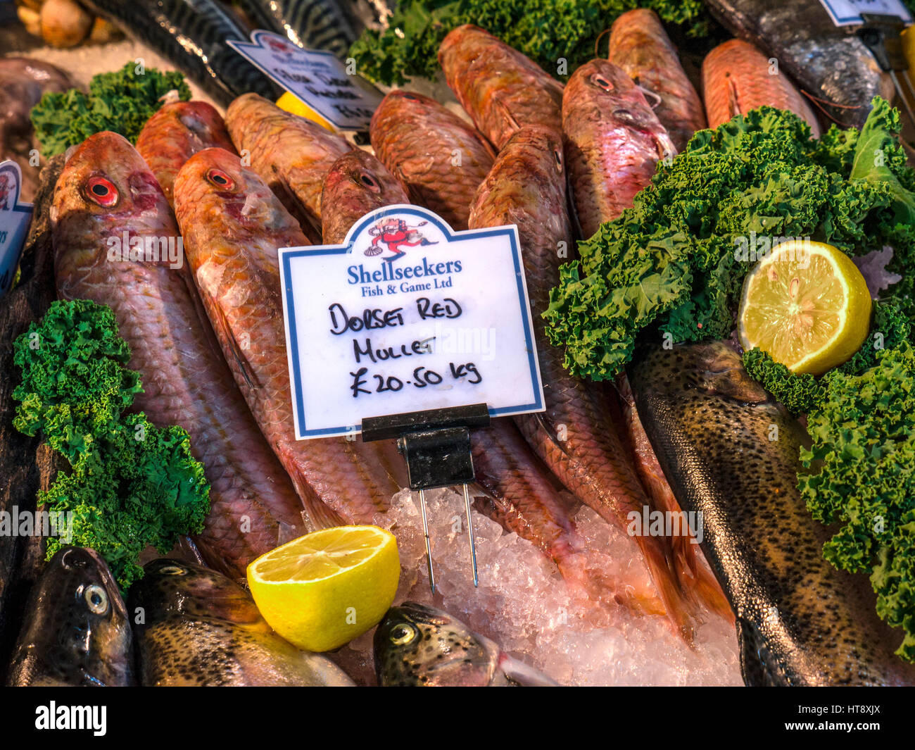
[[[288,37],[299,47],[346,56],[356,32],[338,0],[241,0],[258,28]]]

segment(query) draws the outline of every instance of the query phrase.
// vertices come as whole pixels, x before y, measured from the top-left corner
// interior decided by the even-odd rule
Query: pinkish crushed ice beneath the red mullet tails
[[[448,490],[426,493],[436,583],[429,591],[418,498],[404,491],[375,523],[397,537],[401,582],[394,603],[432,604],[489,636],[565,685],[742,685],[733,625],[714,614],[687,647],[659,616],[637,616],[622,607],[612,622],[594,625],[587,603],[576,599],[556,566],[526,539],[503,531],[473,512],[479,588],[474,589],[464,529],[464,500]],[[591,549],[630,565],[634,545],[592,510],[581,506],[576,524]],[[625,562],[624,562],[625,561]],[[375,684],[371,638],[374,628],[343,647],[335,659],[361,684]]]

